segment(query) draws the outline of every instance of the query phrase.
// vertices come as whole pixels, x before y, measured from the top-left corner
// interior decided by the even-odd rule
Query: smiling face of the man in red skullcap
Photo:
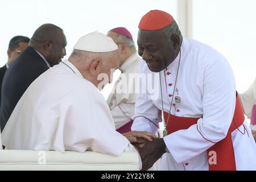
[[[152,72],[160,72],[174,61],[177,50],[162,31],[142,31],[138,34],[138,54]]]

